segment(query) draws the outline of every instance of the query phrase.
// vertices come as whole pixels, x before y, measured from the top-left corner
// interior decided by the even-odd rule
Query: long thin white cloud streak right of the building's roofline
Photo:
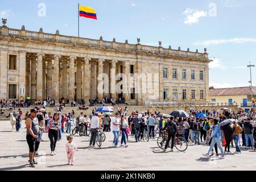
[[[193,43],[195,46],[210,46],[218,44],[242,44],[242,43],[254,43],[256,42],[255,38],[233,38],[233,39],[213,39],[213,40],[201,40]]]

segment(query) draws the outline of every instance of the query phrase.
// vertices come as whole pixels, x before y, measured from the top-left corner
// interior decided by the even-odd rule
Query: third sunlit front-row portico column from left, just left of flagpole
[[[75,99],[75,59],[76,56],[69,57],[69,101]]]

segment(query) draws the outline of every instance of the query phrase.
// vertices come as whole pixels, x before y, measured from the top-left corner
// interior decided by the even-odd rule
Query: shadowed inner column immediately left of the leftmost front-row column
[[[36,59],[35,56],[31,57],[31,100],[36,100]]]

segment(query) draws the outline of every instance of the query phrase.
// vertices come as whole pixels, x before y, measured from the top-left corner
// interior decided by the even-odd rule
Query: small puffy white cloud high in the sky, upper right
[[[193,23],[198,23],[199,18],[207,16],[207,11],[199,11],[199,10],[193,10],[187,8],[184,12],[183,15],[186,15],[187,17],[184,19],[185,24],[193,24]]]

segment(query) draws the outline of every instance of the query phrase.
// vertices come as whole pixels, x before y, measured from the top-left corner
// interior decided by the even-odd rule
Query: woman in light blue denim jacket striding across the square
[[[209,158],[209,152],[212,151],[214,144],[217,143],[218,148],[221,151],[221,156],[219,159],[224,159],[224,150],[221,146],[221,130],[220,126],[218,125],[218,119],[216,118],[210,118],[210,123],[213,124],[213,130],[212,134],[210,135],[209,139],[212,139],[212,142],[210,143],[210,148],[207,152],[207,154],[203,154],[205,157]]]

